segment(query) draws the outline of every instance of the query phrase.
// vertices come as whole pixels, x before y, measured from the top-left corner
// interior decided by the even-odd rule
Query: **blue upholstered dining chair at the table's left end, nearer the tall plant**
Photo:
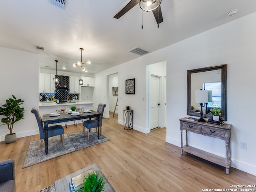
[[[37,108],[33,107],[31,110],[32,113],[36,116],[36,121],[39,127],[39,133],[40,133],[40,150],[42,151],[42,142],[44,140],[44,126],[42,123],[42,118],[39,114],[39,111]],[[53,137],[56,135],[60,135],[60,140],[62,141],[62,146],[64,146],[64,129],[61,125],[54,125],[54,126],[48,126],[48,138]]]

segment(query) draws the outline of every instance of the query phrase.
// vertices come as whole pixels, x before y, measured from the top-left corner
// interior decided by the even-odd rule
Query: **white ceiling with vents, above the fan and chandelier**
[[[92,62],[87,68],[94,74],[139,57],[128,52],[137,46],[153,52],[256,12],[256,0],[162,0],[164,22],[157,28],[153,13],[143,12],[142,29],[139,5],[113,18],[129,1],[68,0],[63,10],[48,0],[1,0],[0,46],[38,53],[40,68],[56,70],[59,60],[58,70],[77,73],[72,64],[84,48],[82,61]]]

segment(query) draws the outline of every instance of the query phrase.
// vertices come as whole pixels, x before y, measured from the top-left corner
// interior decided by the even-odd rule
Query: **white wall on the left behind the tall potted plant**
[[[21,106],[26,110],[24,119],[14,124],[13,132],[18,138],[39,133],[36,118],[30,112],[32,107],[38,107],[38,73],[37,54],[0,47],[0,106],[14,95],[24,100]],[[9,133],[6,125],[0,126],[0,141]]]

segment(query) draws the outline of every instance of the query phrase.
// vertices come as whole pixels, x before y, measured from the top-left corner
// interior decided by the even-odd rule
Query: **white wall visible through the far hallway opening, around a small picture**
[[[108,76],[108,92],[109,92],[109,111],[114,112],[116,106],[117,95],[113,95],[112,88],[118,87],[118,74],[112,74]],[[118,106],[116,107],[118,109]],[[117,113],[118,111],[116,111]]]

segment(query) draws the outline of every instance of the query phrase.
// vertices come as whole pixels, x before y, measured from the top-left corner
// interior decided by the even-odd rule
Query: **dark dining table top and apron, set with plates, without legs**
[[[70,113],[62,113],[60,112],[60,116],[53,116],[51,117],[50,114],[44,114],[42,118],[43,123],[53,124],[58,122],[65,122],[65,121],[73,121],[73,120],[80,120],[80,119],[88,119],[99,117],[100,113],[91,110],[90,113],[81,112],[77,116],[72,116]]]

